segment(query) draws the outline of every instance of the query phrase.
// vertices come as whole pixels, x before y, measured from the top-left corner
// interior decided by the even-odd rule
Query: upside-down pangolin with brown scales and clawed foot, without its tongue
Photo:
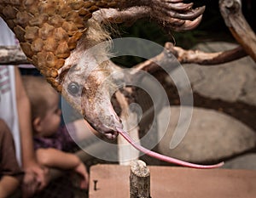
[[[100,21],[93,15],[105,12],[102,18],[119,23],[149,16],[174,30],[188,30],[199,24],[204,12],[204,7],[192,6],[183,0],[0,0],[0,16],[52,87],[96,131],[113,139],[117,131],[122,133],[122,123],[113,110],[108,86],[98,93],[112,64],[99,64],[89,50],[108,34],[100,30]]]

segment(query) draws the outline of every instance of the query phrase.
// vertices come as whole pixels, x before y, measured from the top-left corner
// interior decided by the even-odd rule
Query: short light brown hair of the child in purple
[[[49,99],[58,93],[42,76],[22,76],[22,81],[31,103],[32,120],[36,117],[44,118],[49,109]]]

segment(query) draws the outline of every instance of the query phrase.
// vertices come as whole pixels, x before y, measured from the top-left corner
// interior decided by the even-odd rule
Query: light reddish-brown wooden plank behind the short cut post
[[[151,197],[254,198],[256,171],[148,166]],[[90,168],[90,198],[129,197],[130,166],[96,165]],[[96,190],[94,189],[96,180]]]

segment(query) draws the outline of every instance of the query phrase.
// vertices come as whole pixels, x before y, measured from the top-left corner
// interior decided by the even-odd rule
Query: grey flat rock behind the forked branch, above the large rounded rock
[[[229,42],[206,42],[195,48],[219,52],[236,46]],[[195,93],[210,99],[256,105],[256,64],[250,57],[214,66],[185,64],[183,68]]]

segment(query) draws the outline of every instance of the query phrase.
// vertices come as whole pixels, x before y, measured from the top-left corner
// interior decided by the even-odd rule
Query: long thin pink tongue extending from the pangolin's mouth
[[[195,168],[203,168],[203,169],[222,167],[224,165],[224,162],[220,162],[220,163],[214,164],[214,165],[193,164],[193,163],[189,163],[187,161],[177,160],[177,159],[169,157],[169,156],[163,156],[163,155],[156,153],[152,150],[148,150],[139,144],[136,144],[135,141],[133,139],[131,139],[129,134],[126,133],[122,128],[117,127],[116,129],[134,148],[136,148],[137,150],[140,150],[141,152],[143,152],[144,154],[146,154],[148,156],[152,156],[156,159],[159,159],[160,161],[174,163],[177,165],[181,165],[183,167],[195,167]]]

